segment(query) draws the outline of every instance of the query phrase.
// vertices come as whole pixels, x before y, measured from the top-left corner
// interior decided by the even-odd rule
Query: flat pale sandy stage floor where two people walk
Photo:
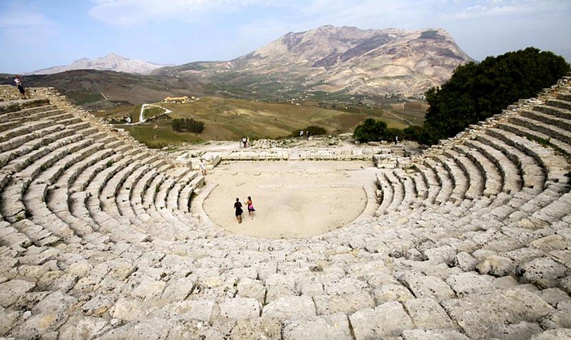
[[[216,186],[203,209],[218,226],[235,234],[263,238],[301,238],[335,230],[367,206],[363,183],[374,185],[371,162],[276,161],[219,165],[207,175]],[[248,217],[247,197],[255,216]],[[243,204],[243,222],[234,214]]]

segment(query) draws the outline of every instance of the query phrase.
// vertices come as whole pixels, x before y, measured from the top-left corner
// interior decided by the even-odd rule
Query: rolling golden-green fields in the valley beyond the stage
[[[147,145],[155,143],[155,146],[160,146],[162,143],[176,143],[177,140],[179,142],[194,142],[197,139],[232,140],[245,136],[280,138],[309,125],[324,127],[330,133],[351,132],[367,118],[382,119],[389,127],[402,129],[409,125],[419,125],[424,119],[424,111],[421,109],[403,109],[402,106],[394,108],[390,105],[371,109],[336,104],[335,109],[332,109],[318,105],[267,103],[221,97],[204,97],[191,103],[157,105],[172,110],[169,116],[173,119],[197,119],[204,122],[205,128],[201,134],[176,133],[172,131],[168,121],[148,122],[127,128],[135,138]],[[100,117],[130,115],[132,121],[136,122],[139,110],[140,106],[124,107],[96,115]],[[148,138],[152,138],[151,143]]]

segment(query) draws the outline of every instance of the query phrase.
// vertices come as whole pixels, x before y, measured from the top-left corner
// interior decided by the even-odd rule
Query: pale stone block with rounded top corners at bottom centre
[[[315,305],[312,299],[303,295],[279,298],[264,306],[262,311],[262,316],[275,317],[280,320],[314,317],[315,315]]]

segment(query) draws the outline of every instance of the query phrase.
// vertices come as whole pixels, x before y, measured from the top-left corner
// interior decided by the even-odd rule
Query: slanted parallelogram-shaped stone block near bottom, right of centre
[[[404,307],[415,326],[422,329],[453,328],[452,320],[435,299],[410,299]]]

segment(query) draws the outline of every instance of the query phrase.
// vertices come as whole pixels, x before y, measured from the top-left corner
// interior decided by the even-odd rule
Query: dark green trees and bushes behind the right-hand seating
[[[501,113],[518,99],[534,97],[569,70],[564,58],[534,47],[460,65],[444,85],[427,91],[430,108],[423,126],[387,129],[367,119],[356,127],[353,137],[360,142],[390,141],[397,134],[432,145]]]

